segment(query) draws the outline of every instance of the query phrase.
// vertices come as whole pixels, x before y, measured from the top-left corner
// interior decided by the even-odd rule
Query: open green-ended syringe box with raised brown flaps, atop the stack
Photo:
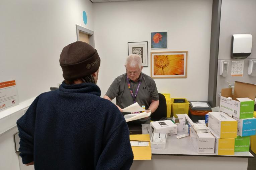
[[[235,81],[232,88],[222,89],[220,109],[238,119],[253,118],[256,85]]]

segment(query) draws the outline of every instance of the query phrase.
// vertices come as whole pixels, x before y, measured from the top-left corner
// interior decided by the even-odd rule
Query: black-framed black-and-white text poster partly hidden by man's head
[[[128,42],[128,55],[138,54],[141,56],[142,65],[144,67],[149,66],[148,64],[148,41],[142,42]]]

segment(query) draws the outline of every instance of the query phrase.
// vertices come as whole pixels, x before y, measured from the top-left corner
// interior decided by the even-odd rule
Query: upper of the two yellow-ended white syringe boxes
[[[218,138],[237,137],[237,121],[223,112],[209,112],[208,127]]]

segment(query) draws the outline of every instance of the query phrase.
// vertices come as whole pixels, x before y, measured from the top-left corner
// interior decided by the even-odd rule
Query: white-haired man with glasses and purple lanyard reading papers
[[[124,66],[126,73],[115,78],[103,98],[110,101],[116,98],[116,105],[121,112],[123,108],[138,102],[140,106],[145,106],[147,113],[154,113],[159,105],[156,83],[141,72],[141,57],[137,54],[129,55]]]

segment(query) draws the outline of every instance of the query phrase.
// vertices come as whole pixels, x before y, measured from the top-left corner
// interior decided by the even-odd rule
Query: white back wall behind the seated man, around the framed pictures
[[[101,57],[98,85],[102,96],[125,72],[127,42],[148,41],[151,31],[168,31],[168,48],[188,51],[187,78],[155,79],[160,93],[207,100],[212,0],[150,0],[94,3],[95,48]]]

